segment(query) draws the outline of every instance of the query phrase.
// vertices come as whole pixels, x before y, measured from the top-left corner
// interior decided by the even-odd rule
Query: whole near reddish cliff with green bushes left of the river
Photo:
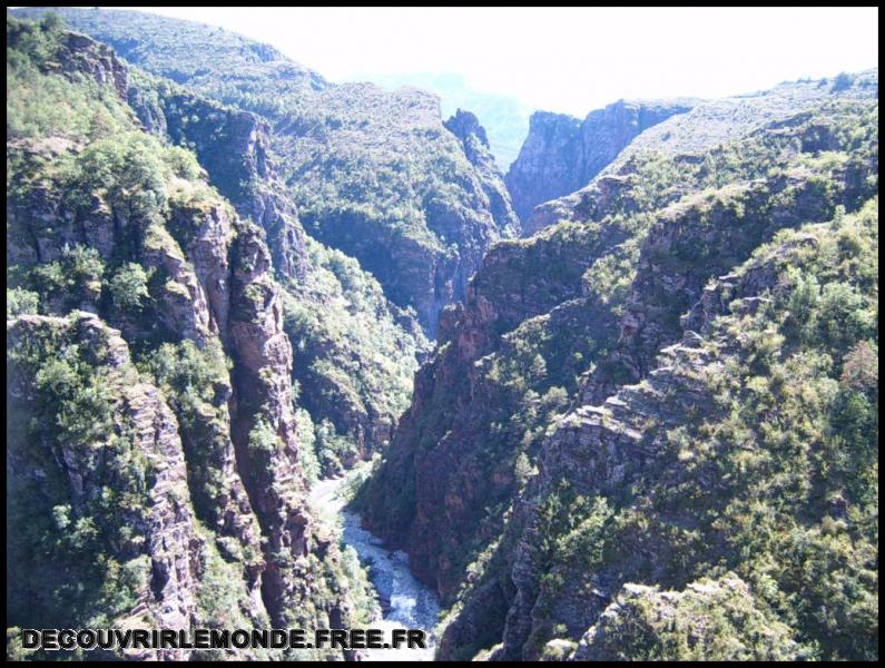
[[[108,47],[52,20],[7,45],[10,625],[355,620],[264,230],[142,131]]]

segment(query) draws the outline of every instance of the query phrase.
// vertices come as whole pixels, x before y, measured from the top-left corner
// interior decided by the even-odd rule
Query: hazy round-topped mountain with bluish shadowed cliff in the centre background
[[[512,229],[498,176],[468,159],[430,94],[347,84],[311,104],[276,126],[305,228],[358,259],[432,337],[440,310],[464,298],[485,250]]]

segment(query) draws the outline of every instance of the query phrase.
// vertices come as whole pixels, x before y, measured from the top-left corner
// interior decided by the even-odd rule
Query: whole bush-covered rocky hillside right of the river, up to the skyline
[[[449,602],[444,658],[877,656],[877,78],[848,81],[659,124],[446,312],[360,499]]]

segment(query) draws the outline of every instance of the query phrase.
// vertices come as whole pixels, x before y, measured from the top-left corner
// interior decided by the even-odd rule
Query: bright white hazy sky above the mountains
[[[878,65],[875,8],[149,8],[268,42],[333,81],[459,72],[583,116],[621,97],[722,97]]]

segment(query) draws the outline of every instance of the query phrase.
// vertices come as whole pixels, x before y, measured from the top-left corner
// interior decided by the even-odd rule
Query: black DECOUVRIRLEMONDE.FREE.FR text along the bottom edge
[[[23,629],[26,649],[425,649],[424,631],[391,629]]]

